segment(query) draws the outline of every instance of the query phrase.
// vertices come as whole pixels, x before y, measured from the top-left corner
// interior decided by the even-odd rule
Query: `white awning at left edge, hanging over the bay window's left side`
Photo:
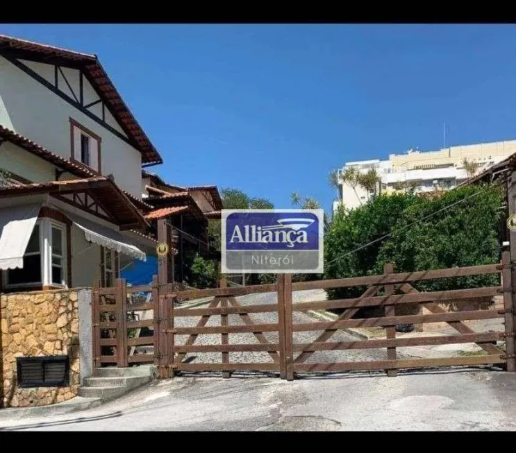
[[[23,268],[24,253],[40,208],[41,203],[0,210],[0,269]]]

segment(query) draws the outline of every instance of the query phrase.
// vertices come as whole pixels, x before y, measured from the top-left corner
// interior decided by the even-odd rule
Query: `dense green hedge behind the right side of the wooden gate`
[[[501,187],[459,187],[440,197],[382,195],[355,210],[336,214],[325,239],[325,278],[383,273],[386,262],[394,264],[395,272],[499,262],[502,200]],[[442,210],[445,207],[449,208]],[[424,219],[435,212],[438,214]],[[388,238],[342,257],[388,233]],[[414,286],[435,291],[496,284],[497,274],[429,280]],[[330,290],[328,296],[356,297],[363,290]]]

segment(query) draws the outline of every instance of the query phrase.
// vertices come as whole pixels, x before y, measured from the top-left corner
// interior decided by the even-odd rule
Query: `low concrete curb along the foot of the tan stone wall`
[[[20,420],[22,418],[60,416],[66,413],[85,411],[102,404],[100,398],[76,396],[72,400],[49,404],[48,406],[10,407],[0,409],[1,420]]]

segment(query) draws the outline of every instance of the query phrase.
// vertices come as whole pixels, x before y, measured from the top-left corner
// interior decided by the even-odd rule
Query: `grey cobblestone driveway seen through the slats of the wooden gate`
[[[308,300],[324,300],[326,293],[322,290],[310,290],[310,291],[295,291],[293,296],[295,302],[306,302]],[[249,294],[248,296],[240,296],[236,298],[242,305],[263,305],[272,304],[276,302],[276,293],[258,293]],[[257,324],[269,324],[278,323],[277,313],[253,313],[249,314],[253,323]],[[175,327],[194,327],[197,325],[200,317],[178,317],[174,320]],[[310,323],[316,320],[307,314],[294,311],[293,323]],[[228,316],[229,325],[244,325],[242,317],[236,314]],[[220,316],[211,316],[206,323],[207,326],[220,325]],[[314,341],[322,331],[314,332],[294,332],[294,343],[310,343]],[[278,343],[278,332],[264,332],[265,337],[271,343]],[[188,335],[176,336],[176,344],[180,345],[185,343]],[[331,341],[353,341],[356,340],[356,336],[352,336],[343,331],[338,331],[333,334]],[[195,344],[197,345],[212,345],[220,344],[220,334],[203,334],[197,337]],[[230,344],[249,344],[258,343],[258,340],[252,333],[242,334],[229,334]],[[399,358],[403,358],[402,354],[398,354]],[[315,352],[306,363],[322,363],[322,362],[338,362],[338,361],[370,361],[370,360],[384,360],[387,359],[387,352],[383,349],[369,349],[369,350],[346,350],[346,351],[317,351]],[[190,363],[217,363],[222,362],[222,354],[220,352],[195,352],[187,354],[185,357],[186,361]],[[272,359],[269,357],[267,352],[230,352],[230,362],[270,362]]]

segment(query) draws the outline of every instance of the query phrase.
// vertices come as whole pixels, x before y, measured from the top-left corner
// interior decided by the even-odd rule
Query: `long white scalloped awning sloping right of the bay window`
[[[69,212],[66,213],[66,216],[74,222],[74,225],[83,230],[86,241],[97,243],[99,246],[116,250],[118,253],[123,253],[142,261],[147,260],[145,253],[138,247],[128,243],[128,238],[122,236],[119,232]]]

